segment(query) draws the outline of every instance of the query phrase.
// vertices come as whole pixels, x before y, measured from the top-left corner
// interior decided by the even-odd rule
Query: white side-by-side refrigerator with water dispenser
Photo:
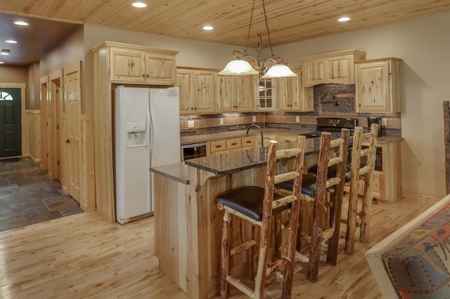
[[[115,91],[116,220],[121,224],[153,215],[149,168],[181,160],[178,88]]]

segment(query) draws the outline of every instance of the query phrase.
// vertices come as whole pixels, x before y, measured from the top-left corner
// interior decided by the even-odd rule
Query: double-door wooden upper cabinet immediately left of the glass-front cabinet
[[[216,112],[252,112],[257,97],[257,86],[257,75],[218,75]]]

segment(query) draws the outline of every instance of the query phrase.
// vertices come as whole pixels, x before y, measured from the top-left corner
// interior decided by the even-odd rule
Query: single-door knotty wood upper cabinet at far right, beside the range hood
[[[356,112],[400,112],[399,59],[356,62]]]

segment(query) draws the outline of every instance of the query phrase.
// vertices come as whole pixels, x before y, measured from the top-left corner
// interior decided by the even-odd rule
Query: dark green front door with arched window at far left
[[[0,159],[20,156],[20,88],[0,88]]]

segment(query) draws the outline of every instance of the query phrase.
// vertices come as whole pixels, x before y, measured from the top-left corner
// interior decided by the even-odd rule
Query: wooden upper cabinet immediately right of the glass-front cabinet
[[[314,111],[310,88],[302,86],[302,69],[294,69],[297,77],[274,78],[276,109],[278,111]]]

